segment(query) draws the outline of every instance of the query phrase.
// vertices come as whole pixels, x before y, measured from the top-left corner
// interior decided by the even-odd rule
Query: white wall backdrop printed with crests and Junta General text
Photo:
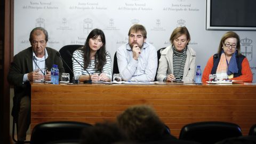
[[[116,49],[128,41],[134,23],[146,27],[147,41],[157,49],[170,45],[174,28],[186,26],[191,35],[189,45],[197,53],[196,64],[203,70],[227,32],[205,30],[205,17],[206,0],[14,0],[14,54],[30,46],[29,33],[35,27],[48,31],[47,46],[56,50],[69,44],[83,45],[92,29],[102,29],[107,51],[114,58]],[[256,31],[235,32],[242,39],[242,53],[250,61],[256,82]]]

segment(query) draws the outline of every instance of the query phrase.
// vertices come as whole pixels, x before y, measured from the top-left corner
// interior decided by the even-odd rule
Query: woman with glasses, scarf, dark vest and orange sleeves
[[[217,79],[231,79],[252,82],[252,71],[247,58],[241,54],[239,36],[228,31],[221,38],[218,53],[207,62],[202,82],[209,81],[209,75],[216,74]]]

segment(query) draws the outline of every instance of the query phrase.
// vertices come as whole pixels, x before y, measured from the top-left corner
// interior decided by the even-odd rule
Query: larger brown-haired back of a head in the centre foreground
[[[117,116],[117,124],[130,140],[146,142],[162,139],[165,125],[155,111],[146,105],[132,106]]]

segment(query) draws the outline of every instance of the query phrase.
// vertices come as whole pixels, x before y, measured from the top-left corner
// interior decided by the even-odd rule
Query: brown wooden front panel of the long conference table
[[[48,121],[94,124],[115,121],[131,105],[147,104],[177,138],[201,121],[236,123],[247,135],[256,123],[254,85],[53,85],[31,84],[31,129]]]

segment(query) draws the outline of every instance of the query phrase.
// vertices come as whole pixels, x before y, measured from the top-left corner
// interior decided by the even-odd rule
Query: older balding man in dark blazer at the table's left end
[[[57,51],[46,47],[48,33],[44,28],[34,28],[29,36],[30,47],[19,52],[13,58],[8,81],[14,85],[12,116],[18,127],[18,143],[26,140],[30,125],[30,83],[33,81],[51,81],[50,69],[58,65],[60,74],[65,73],[62,60]]]

